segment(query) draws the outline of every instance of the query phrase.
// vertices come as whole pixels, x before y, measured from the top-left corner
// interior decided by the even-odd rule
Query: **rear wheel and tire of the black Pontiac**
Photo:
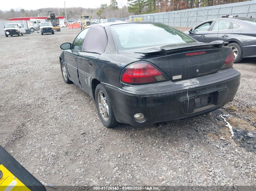
[[[101,98],[101,100],[99,100]],[[115,119],[114,112],[112,110],[111,101],[109,99],[108,93],[102,84],[98,84],[95,89],[95,103],[98,111],[98,115],[101,122],[106,127],[115,127],[119,123]],[[102,104],[102,107],[99,104]],[[108,108],[108,112],[107,112]]]

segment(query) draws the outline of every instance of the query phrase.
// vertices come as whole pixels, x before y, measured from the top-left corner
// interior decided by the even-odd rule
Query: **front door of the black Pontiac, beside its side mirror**
[[[75,38],[71,46],[71,49],[65,51],[65,60],[67,63],[68,75],[79,87],[81,87],[81,84],[78,78],[77,55],[81,50],[81,46],[85,39],[85,35],[86,31],[82,30]]]

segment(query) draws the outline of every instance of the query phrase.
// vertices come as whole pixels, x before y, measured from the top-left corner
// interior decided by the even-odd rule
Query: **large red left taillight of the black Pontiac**
[[[168,78],[158,68],[146,62],[128,65],[121,74],[121,81],[128,84],[145,84],[165,80]]]

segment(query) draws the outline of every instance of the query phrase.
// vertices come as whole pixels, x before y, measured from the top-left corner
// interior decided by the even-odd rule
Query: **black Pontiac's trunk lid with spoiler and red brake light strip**
[[[171,81],[181,81],[217,73],[230,52],[223,41],[191,43],[169,47],[151,47],[118,51],[158,66]]]

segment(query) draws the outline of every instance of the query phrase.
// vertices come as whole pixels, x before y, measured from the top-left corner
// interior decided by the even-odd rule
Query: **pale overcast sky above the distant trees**
[[[118,6],[127,5],[127,0],[117,0]],[[110,4],[110,0],[65,0],[65,5],[67,7],[83,7],[83,8],[98,8],[102,3]],[[56,7],[62,8],[64,7],[64,0],[1,0],[0,9],[2,11],[8,11],[10,9],[39,9],[39,8],[48,8],[48,7]]]

